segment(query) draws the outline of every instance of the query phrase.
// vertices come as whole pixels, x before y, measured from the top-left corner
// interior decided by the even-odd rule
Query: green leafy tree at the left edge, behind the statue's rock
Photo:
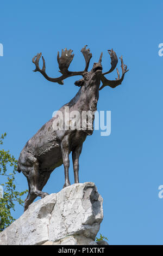
[[[0,137],[0,145],[6,133]],[[11,167],[10,167],[11,166]],[[0,149],[0,175],[5,180],[3,187],[3,198],[0,198],[0,232],[7,228],[15,219],[11,216],[11,210],[15,211],[15,202],[23,205],[22,195],[28,192],[18,192],[15,185],[15,174],[17,172],[17,160],[11,156],[9,151]]]

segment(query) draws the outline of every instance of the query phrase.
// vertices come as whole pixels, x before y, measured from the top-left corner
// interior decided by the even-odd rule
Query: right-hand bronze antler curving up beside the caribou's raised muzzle
[[[111,68],[110,68],[109,72],[103,73],[101,75],[101,81],[103,82],[103,85],[101,86],[101,88],[99,88],[99,90],[102,90],[105,86],[110,86],[111,88],[115,88],[116,86],[121,85],[121,83],[123,81],[123,78],[124,78],[124,74],[127,73],[128,70],[129,70],[129,69],[127,70],[127,66],[123,64],[123,58],[121,56],[120,57],[120,59],[121,59],[121,68],[122,68],[121,78],[120,78],[120,72],[117,69],[118,78],[116,78],[116,80],[106,79],[104,75],[112,72],[115,69],[115,67],[117,65],[117,62],[118,62],[116,53],[114,51],[112,51],[112,49],[109,52],[109,54],[110,54],[110,57],[111,57]]]

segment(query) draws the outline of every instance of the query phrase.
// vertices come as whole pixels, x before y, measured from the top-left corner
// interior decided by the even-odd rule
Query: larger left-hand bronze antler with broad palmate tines
[[[81,50],[84,58],[85,58],[85,62],[86,62],[86,66],[84,71],[81,72],[71,72],[68,71],[68,67],[70,66],[70,63],[72,62],[73,56],[74,54],[72,54],[72,50],[67,50],[65,48],[65,50],[62,50],[61,52],[61,57],[59,57],[59,52],[57,55],[57,61],[59,64],[59,72],[62,74],[59,78],[49,78],[49,76],[46,74],[45,72],[45,59],[42,56],[42,61],[43,61],[43,66],[42,69],[40,69],[39,67],[39,60],[40,57],[42,55],[42,53],[37,53],[36,56],[33,57],[32,62],[35,64],[36,68],[35,70],[33,70],[34,72],[39,71],[48,81],[51,82],[58,82],[58,84],[63,85],[64,84],[64,79],[69,78],[70,76],[75,76],[75,75],[83,75],[84,72],[87,71],[88,67],[89,67],[89,62],[90,59],[92,57],[92,53],[90,53],[90,49],[86,49],[86,45],[84,46],[84,48]]]

